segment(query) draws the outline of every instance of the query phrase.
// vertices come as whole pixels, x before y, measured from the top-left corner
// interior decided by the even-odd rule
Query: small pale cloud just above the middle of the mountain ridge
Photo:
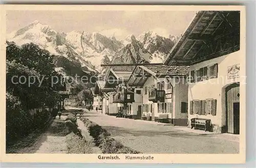
[[[124,39],[127,35],[129,35],[129,32],[127,32],[126,30],[117,28],[101,30],[99,31],[99,33],[106,37],[111,37],[114,35],[118,40]]]

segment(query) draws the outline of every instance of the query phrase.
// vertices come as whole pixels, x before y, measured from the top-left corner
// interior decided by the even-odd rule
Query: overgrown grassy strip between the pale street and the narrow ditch
[[[111,137],[111,134],[98,124],[88,119],[81,119],[84,125],[89,129],[90,135],[94,138],[95,145],[98,146],[102,153],[108,154],[138,154],[131,148],[123,146],[120,142]]]

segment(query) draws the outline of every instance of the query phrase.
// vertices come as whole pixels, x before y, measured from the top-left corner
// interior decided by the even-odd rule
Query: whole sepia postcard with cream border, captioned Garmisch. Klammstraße
[[[5,159],[245,161],[243,6],[13,6]]]

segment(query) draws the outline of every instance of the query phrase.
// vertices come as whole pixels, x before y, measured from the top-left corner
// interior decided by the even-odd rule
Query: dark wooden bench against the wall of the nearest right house
[[[211,127],[211,121],[210,119],[199,119],[199,118],[193,118],[190,120],[190,126],[192,128],[197,129],[204,129],[204,131],[209,131]]]

